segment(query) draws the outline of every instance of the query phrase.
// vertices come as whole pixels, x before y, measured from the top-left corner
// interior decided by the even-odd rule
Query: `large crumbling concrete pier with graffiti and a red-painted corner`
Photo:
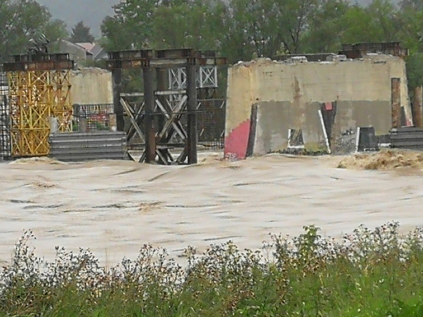
[[[336,102],[333,135],[373,126],[387,133],[391,119],[391,78],[401,78],[401,105],[412,124],[403,60],[370,55],[344,62],[283,63],[258,59],[229,69],[225,155],[245,157],[251,107],[258,106],[255,154],[286,147],[289,128],[301,128],[310,149],[324,141],[318,110]]]

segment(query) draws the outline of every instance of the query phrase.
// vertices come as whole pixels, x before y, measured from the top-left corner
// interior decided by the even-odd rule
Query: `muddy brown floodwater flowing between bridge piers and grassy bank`
[[[221,162],[207,154],[194,166],[129,161],[0,164],[0,259],[9,261],[23,230],[36,254],[55,246],[90,248],[103,264],[135,258],[143,244],[203,250],[234,241],[256,249],[269,233],[298,235],[315,224],[340,237],[360,224],[423,225],[421,171],[337,169],[336,157],[269,155]]]

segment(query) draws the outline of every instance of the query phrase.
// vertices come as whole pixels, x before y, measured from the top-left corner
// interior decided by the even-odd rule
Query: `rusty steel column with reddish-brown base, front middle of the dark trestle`
[[[145,162],[151,163],[156,157],[155,131],[153,124],[154,87],[153,70],[151,67],[142,68],[144,79],[144,109],[145,109]]]

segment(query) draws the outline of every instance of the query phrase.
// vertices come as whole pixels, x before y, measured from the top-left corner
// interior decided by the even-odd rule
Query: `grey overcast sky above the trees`
[[[398,1],[398,0],[393,0]],[[55,18],[64,20],[70,29],[79,21],[91,27],[91,33],[100,35],[101,21],[107,15],[113,15],[112,5],[119,0],[38,0],[46,5]],[[359,4],[368,4],[371,0],[351,0]]]

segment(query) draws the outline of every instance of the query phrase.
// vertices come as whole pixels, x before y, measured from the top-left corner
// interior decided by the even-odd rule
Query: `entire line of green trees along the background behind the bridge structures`
[[[236,63],[398,41],[410,50],[410,86],[423,84],[423,0],[372,0],[367,6],[348,0],[126,0],[113,8],[99,39],[108,50],[190,47],[215,50]],[[2,1],[0,55],[22,51],[39,31],[53,41],[92,40],[81,23],[67,34],[65,23],[36,0]]]

